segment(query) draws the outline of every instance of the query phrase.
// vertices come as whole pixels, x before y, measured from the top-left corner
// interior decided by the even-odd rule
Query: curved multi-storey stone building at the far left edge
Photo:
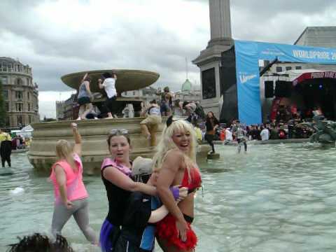
[[[38,86],[33,82],[31,67],[10,57],[0,57],[0,80],[7,111],[6,127],[20,128],[39,122]]]

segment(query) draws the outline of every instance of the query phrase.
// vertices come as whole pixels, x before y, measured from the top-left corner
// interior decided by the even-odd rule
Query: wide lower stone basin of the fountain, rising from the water
[[[166,118],[163,118],[164,121]],[[126,129],[130,134],[132,151],[131,160],[137,156],[153,158],[155,148],[149,146],[148,140],[141,134],[139,123],[144,118],[113,118],[100,120],[64,120],[50,123],[35,123],[33,141],[28,152],[31,165],[38,172],[50,172],[50,167],[56,161],[55,146],[59,139],[73,141],[70,124],[78,124],[82,136],[82,161],[85,174],[100,174],[104,158],[109,156],[106,137],[112,129]],[[158,140],[164,124],[158,128]],[[199,146],[197,158],[206,158],[210,146]]]

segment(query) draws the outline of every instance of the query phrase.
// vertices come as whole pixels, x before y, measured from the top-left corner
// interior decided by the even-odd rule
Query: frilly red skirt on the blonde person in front
[[[156,223],[156,235],[167,241],[168,246],[175,246],[180,250],[193,250],[197,245],[197,236],[188,223],[187,240],[182,241],[177,235],[176,219],[168,214],[162,221]]]

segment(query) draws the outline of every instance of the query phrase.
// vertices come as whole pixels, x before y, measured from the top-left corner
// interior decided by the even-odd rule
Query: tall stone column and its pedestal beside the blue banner
[[[205,111],[221,114],[221,52],[233,45],[231,36],[230,0],[209,0],[211,39],[207,48],[193,60],[201,71],[201,104]]]

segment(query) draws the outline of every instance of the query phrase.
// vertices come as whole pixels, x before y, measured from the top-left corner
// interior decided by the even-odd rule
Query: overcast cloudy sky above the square
[[[211,1],[211,0],[209,0]],[[210,39],[208,0],[0,0],[0,57],[33,69],[41,117],[71,89],[60,77],[94,69],[160,73],[156,86],[179,90]],[[332,26],[332,0],[231,0],[235,39],[293,44],[307,26]]]

